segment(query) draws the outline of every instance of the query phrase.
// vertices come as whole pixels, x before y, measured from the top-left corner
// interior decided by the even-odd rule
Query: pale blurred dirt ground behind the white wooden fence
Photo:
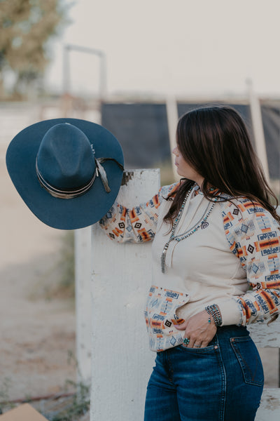
[[[75,311],[67,300],[34,299],[57,259],[64,232],[43,225],[8,177],[0,147],[0,401],[52,394],[76,381]],[[35,294],[36,296],[36,294]],[[267,387],[278,386],[279,351],[261,350]],[[276,369],[277,367],[277,369]]]

